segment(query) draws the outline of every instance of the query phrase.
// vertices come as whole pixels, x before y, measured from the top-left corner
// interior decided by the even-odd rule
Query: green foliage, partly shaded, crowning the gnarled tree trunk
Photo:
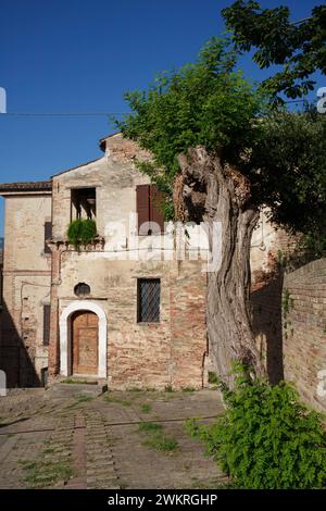
[[[177,157],[204,146],[251,183],[252,202],[290,232],[326,232],[326,115],[271,111],[271,96],[235,71],[227,39],[213,38],[193,64],[164,73],[147,92],[127,94],[133,110],[117,126],[151,151],[142,172],[165,194],[173,215]]]

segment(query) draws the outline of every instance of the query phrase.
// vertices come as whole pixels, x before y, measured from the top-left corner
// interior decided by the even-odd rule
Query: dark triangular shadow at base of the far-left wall
[[[35,348],[24,345],[4,301],[0,321],[0,369],[5,372],[7,387],[39,387],[33,363]]]

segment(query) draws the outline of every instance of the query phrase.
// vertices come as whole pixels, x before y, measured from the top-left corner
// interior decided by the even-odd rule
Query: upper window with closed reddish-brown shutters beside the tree
[[[163,233],[164,216],[160,211],[162,194],[154,185],[139,185],[136,191],[138,234],[140,236],[149,236]]]

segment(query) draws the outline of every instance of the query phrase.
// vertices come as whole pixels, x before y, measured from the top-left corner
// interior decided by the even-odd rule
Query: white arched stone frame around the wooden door
[[[72,315],[77,311],[95,312],[99,319],[98,377],[106,378],[108,322],[103,309],[92,301],[74,300],[62,312],[60,328],[60,374],[72,375]]]

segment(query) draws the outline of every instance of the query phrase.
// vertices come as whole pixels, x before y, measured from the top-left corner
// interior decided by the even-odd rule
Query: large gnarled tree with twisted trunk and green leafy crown
[[[233,359],[262,374],[250,324],[250,241],[261,208],[292,229],[326,215],[325,117],[268,109],[271,98],[236,72],[237,54],[213,38],[199,59],[126,95],[118,123],[149,150],[143,172],[166,195],[166,211],[204,221],[210,244],[222,223],[222,266],[208,278],[208,333],[216,370]]]

